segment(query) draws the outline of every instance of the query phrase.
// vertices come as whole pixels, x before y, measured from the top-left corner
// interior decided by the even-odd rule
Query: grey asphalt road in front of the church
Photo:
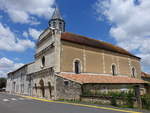
[[[125,113],[124,112],[76,106],[55,102],[44,102],[20,96],[0,93],[0,113]],[[136,113],[133,110],[131,113]],[[145,112],[146,113],[146,112]],[[148,113],[148,112],[147,112]]]

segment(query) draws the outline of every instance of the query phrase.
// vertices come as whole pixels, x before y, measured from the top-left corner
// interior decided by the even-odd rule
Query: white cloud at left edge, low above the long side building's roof
[[[6,57],[0,58],[0,77],[6,77],[8,72],[11,72],[23,65],[23,63],[15,63]]]

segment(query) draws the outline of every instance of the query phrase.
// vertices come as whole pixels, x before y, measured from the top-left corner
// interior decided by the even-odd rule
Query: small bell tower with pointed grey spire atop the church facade
[[[63,20],[58,7],[55,8],[53,16],[49,21],[49,27],[57,29],[60,32],[65,32],[65,21]]]

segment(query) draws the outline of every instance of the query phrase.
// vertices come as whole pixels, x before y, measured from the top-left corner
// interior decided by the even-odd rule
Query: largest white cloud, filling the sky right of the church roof
[[[104,17],[112,23],[110,35],[117,45],[136,51],[143,67],[150,67],[150,0],[136,2],[138,4],[135,0],[98,0],[96,11],[100,21]]]

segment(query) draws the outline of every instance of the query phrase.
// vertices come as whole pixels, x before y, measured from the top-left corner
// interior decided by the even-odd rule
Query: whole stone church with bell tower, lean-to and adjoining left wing
[[[141,87],[140,58],[123,48],[65,31],[56,8],[36,43],[35,61],[8,73],[7,91],[49,99]]]

